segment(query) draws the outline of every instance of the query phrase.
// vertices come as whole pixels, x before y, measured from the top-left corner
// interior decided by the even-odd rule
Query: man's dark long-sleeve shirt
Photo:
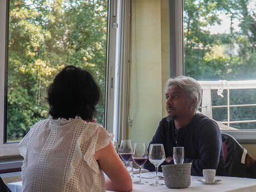
[[[223,175],[221,133],[216,122],[204,115],[195,114],[189,125],[178,130],[173,120],[168,120],[168,117],[163,118],[149,146],[150,144],[163,144],[166,157],[173,156],[174,146],[183,146],[184,163],[192,163],[191,175],[201,176],[203,169],[216,169],[217,175]],[[170,163],[165,161],[161,165],[167,164],[173,164],[173,160]],[[155,171],[154,165],[149,161],[144,168]]]

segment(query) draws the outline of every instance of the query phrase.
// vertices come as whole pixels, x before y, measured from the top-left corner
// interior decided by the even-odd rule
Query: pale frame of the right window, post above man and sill
[[[172,30],[173,45],[170,50],[173,50],[173,76],[183,75],[183,1],[170,0],[170,10],[173,10],[172,19],[170,16],[170,31]],[[172,9],[171,9],[172,8]],[[171,23],[173,21],[173,23]],[[182,26],[181,26],[182,23]],[[170,32],[171,33],[171,32]],[[170,41],[171,42],[171,41]],[[182,48],[181,48],[182,47]],[[170,63],[172,64],[172,63]],[[171,73],[170,76],[172,77]],[[243,130],[221,130],[221,132],[230,134],[235,137],[240,143],[256,143],[256,129],[252,131]]]

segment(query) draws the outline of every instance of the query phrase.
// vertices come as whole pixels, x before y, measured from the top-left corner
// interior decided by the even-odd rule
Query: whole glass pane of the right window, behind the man
[[[255,11],[255,0],[184,0],[185,75],[211,81],[212,117],[236,129],[256,129],[255,89],[243,87],[256,80]]]

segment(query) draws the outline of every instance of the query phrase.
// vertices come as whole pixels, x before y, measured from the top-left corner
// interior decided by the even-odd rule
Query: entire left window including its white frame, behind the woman
[[[118,6],[120,3],[110,4],[107,0],[3,1],[0,156],[18,155],[18,141],[31,125],[47,118],[47,86],[66,65],[80,66],[93,73],[102,90],[95,118],[109,127],[109,132],[117,131],[108,126],[113,125],[113,120],[107,122],[105,117],[113,116],[118,108],[113,101],[118,98],[114,93],[119,83],[119,78],[115,79],[115,63],[120,37],[117,27],[110,26],[110,22],[120,18],[113,11],[107,17],[110,8],[118,13]],[[117,20],[113,21],[114,17]]]

